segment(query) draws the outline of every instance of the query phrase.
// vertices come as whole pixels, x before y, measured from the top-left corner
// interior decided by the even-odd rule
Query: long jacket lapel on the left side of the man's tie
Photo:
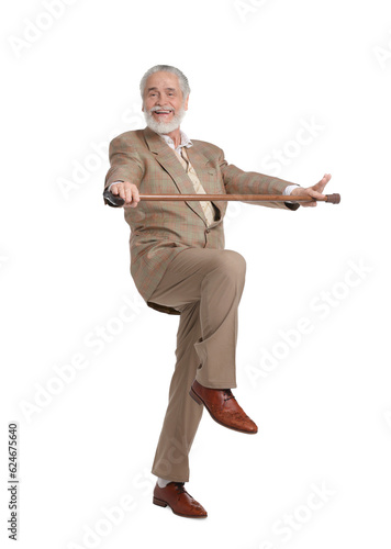
[[[161,137],[153,132],[149,127],[144,130],[145,141],[149,147],[150,153],[156,156],[156,160],[172,178],[181,194],[194,194],[194,187],[189,176],[185,172],[180,161],[178,160],[175,152],[165,143]],[[192,148],[192,147],[191,147]],[[190,148],[190,149],[191,149]],[[188,150],[190,150],[188,149]],[[190,157],[189,157],[190,158]],[[208,160],[206,160],[208,161]],[[192,160],[191,160],[192,163]],[[194,165],[193,165],[194,166]],[[197,166],[194,166],[197,171]],[[206,189],[205,189],[206,191]],[[186,202],[191,210],[201,217],[208,225],[205,215],[203,213],[200,202],[188,201]]]

